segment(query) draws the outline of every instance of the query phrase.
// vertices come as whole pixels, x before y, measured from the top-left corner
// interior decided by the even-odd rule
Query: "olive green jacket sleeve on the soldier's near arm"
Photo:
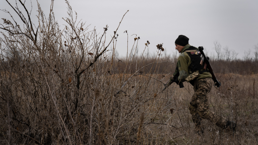
[[[190,57],[186,52],[180,54],[178,57],[178,71],[179,71],[179,77],[178,80],[181,82],[185,81],[185,78],[189,75],[188,66],[190,65]]]

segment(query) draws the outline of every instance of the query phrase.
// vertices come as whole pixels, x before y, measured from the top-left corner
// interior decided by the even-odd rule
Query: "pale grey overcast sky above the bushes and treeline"
[[[15,2],[14,0],[9,0]],[[24,0],[23,0],[24,1]],[[45,15],[49,14],[50,0],[38,0]],[[109,26],[107,34],[113,36],[113,31],[119,25],[127,10],[119,30],[116,50],[119,56],[126,56],[128,30],[129,48],[134,43],[134,36],[140,37],[139,52],[143,52],[145,43],[150,41],[149,52],[157,51],[157,44],[163,43],[167,54],[175,53],[175,40],[178,35],[185,35],[189,44],[195,47],[203,46],[208,54],[214,51],[214,41],[222,48],[228,47],[238,53],[238,58],[244,56],[244,51],[254,51],[258,44],[258,1],[257,0],[72,0],[69,1],[78,14],[78,19],[103,33],[103,27]],[[27,7],[30,1],[26,0]],[[32,16],[37,12],[37,1],[32,0]],[[11,10],[11,7],[1,0],[0,9]],[[55,18],[60,24],[65,24],[62,17],[67,17],[67,4],[64,0],[54,0]],[[12,15],[15,15],[12,12]],[[1,18],[8,18],[0,12]],[[10,17],[9,17],[10,19]],[[36,17],[34,21],[36,21]],[[0,21],[1,23],[2,20]],[[36,24],[36,22],[35,22]],[[164,52],[163,52],[164,54]]]

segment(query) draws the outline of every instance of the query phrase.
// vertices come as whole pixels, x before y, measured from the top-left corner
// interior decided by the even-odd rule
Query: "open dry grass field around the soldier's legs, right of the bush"
[[[169,98],[175,92],[172,97],[174,104],[171,107],[177,110],[171,118],[170,124],[178,129],[170,127],[166,128],[167,131],[161,132],[165,138],[177,137],[168,142],[176,144],[257,144],[256,75],[217,74],[217,76],[219,76],[222,86],[218,89],[213,87],[209,93],[210,108],[227,119],[236,121],[236,133],[232,135],[230,131],[218,128],[208,120],[203,122],[205,128],[203,135],[193,133],[194,124],[187,109],[193,89],[191,85],[184,83],[185,88],[167,90],[169,95],[165,95],[165,98]],[[168,109],[167,114],[170,114]],[[181,134],[184,135],[179,136]]]

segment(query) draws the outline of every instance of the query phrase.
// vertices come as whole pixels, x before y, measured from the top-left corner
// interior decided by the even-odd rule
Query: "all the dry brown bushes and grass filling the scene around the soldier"
[[[209,94],[211,110],[235,120],[236,133],[204,121],[204,134],[195,134],[187,109],[192,86],[161,92],[176,59],[162,58],[160,49],[152,59],[129,50],[118,60],[107,52],[117,29],[111,39],[108,26],[97,35],[67,5],[64,29],[40,7],[39,26],[19,11],[25,29],[8,20],[1,25],[1,144],[257,144],[256,69],[218,71],[222,86]]]

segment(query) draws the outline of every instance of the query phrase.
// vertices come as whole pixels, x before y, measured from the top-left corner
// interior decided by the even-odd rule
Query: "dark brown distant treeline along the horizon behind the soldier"
[[[136,60],[137,59],[137,60]],[[141,69],[139,73],[158,73],[158,74],[173,74],[176,68],[177,57],[163,57],[155,60],[155,58],[145,58],[140,61],[140,57],[136,57],[133,60],[126,62],[126,59],[117,59],[113,61],[112,70],[113,73],[123,72],[125,69],[129,72],[135,72],[139,68],[146,66]],[[153,64],[153,62],[156,62]],[[241,75],[246,74],[257,74],[258,72],[258,60],[255,59],[235,59],[235,60],[224,60],[224,59],[211,59],[210,63],[215,73],[236,73]],[[137,69],[136,69],[137,68]],[[116,71],[114,71],[116,70]]]

